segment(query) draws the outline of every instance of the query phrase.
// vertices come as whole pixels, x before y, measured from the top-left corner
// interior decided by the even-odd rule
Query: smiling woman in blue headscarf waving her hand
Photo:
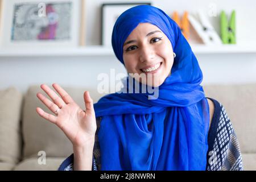
[[[113,28],[112,46],[129,73],[122,92],[94,105],[85,92],[84,111],[59,85],[53,88],[62,99],[41,86],[54,103],[38,97],[57,116],[36,110],[73,144],[59,170],[242,170],[225,109],[205,97],[197,59],[166,13],[149,5],[126,10]],[[158,93],[142,92],[145,86]]]

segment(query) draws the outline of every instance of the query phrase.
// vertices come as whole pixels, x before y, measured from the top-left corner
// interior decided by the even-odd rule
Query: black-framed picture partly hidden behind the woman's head
[[[101,45],[112,46],[112,31],[118,16],[123,11],[137,5],[151,5],[150,2],[142,3],[104,3],[101,6]]]

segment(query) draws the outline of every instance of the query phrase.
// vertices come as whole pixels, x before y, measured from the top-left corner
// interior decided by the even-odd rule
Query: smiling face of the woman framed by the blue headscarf
[[[131,74],[137,81],[156,87],[171,74],[172,50],[170,40],[158,27],[139,23],[123,44],[123,61],[128,73],[137,73]]]

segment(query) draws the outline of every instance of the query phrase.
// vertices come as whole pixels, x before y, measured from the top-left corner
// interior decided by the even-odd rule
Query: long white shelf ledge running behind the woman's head
[[[222,53],[256,53],[256,46],[221,45],[205,46],[203,44],[191,44],[195,54],[222,54]],[[0,57],[20,56],[114,56],[112,47],[88,46],[79,48],[31,48],[31,49],[7,49],[0,48]]]

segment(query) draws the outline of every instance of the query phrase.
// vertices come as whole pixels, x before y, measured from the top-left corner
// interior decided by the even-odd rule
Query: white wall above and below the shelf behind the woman
[[[87,0],[86,44],[100,44],[100,5],[107,2]],[[132,2],[142,2],[135,1]],[[170,14],[173,10],[193,12],[199,8],[207,9],[216,3],[217,11],[233,8],[237,11],[237,42],[256,46],[256,1],[151,1]],[[254,11],[253,11],[254,10]],[[218,18],[212,18],[217,27]],[[196,55],[204,73],[204,83],[245,83],[256,82],[256,52],[222,53]],[[67,86],[97,87],[97,75],[109,73],[110,68],[125,73],[125,68],[113,56],[106,57],[0,57],[0,89],[16,86],[26,92],[31,84],[52,84],[57,82]]]

